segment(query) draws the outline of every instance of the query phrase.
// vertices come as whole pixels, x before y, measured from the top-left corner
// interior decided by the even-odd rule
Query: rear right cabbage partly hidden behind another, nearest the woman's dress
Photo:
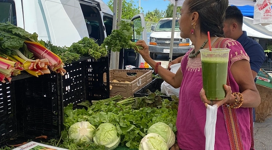
[[[167,125],[166,123],[157,122],[151,125],[147,130],[147,134],[148,133],[157,133],[161,137],[163,137],[167,143],[168,149],[170,149],[175,144],[175,140],[176,140],[175,134],[173,130],[171,129],[171,127]]]

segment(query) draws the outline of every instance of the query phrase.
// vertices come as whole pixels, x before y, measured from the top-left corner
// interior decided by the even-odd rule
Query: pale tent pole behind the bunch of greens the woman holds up
[[[112,30],[116,30],[117,25],[117,0],[113,0],[113,23]],[[117,59],[119,60],[119,58]],[[116,52],[110,52],[110,66],[109,69],[118,69],[118,63],[116,64]]]

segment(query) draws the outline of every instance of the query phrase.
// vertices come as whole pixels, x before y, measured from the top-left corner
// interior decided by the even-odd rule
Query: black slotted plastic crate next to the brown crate
[[[63,103],[80,103],[85,100],[109,98],[109,60],[103,57],[95,60],[91,57],[82,58],[66,65],[67,71],[62,76]],[[106,84],[103,75],[106,75]]]

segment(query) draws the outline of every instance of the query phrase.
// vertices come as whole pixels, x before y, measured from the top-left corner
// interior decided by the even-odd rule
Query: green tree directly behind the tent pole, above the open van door
[[[113,11],[113,0],[108,1],[107,5]],[[117,6],[118,9],[118,6]],[[140,10],[134,3],[134,0],[123,0],[122,2],[122,19],[130,20],[136,14],[139,14]]]

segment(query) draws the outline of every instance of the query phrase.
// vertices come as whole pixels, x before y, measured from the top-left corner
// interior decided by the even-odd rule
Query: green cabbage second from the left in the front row
[[[104,145],[105,150],[114,150],[118,147],[120,140],[116,126],[111,123],[100,124],[93,136],[93,142],[98,145]]]

